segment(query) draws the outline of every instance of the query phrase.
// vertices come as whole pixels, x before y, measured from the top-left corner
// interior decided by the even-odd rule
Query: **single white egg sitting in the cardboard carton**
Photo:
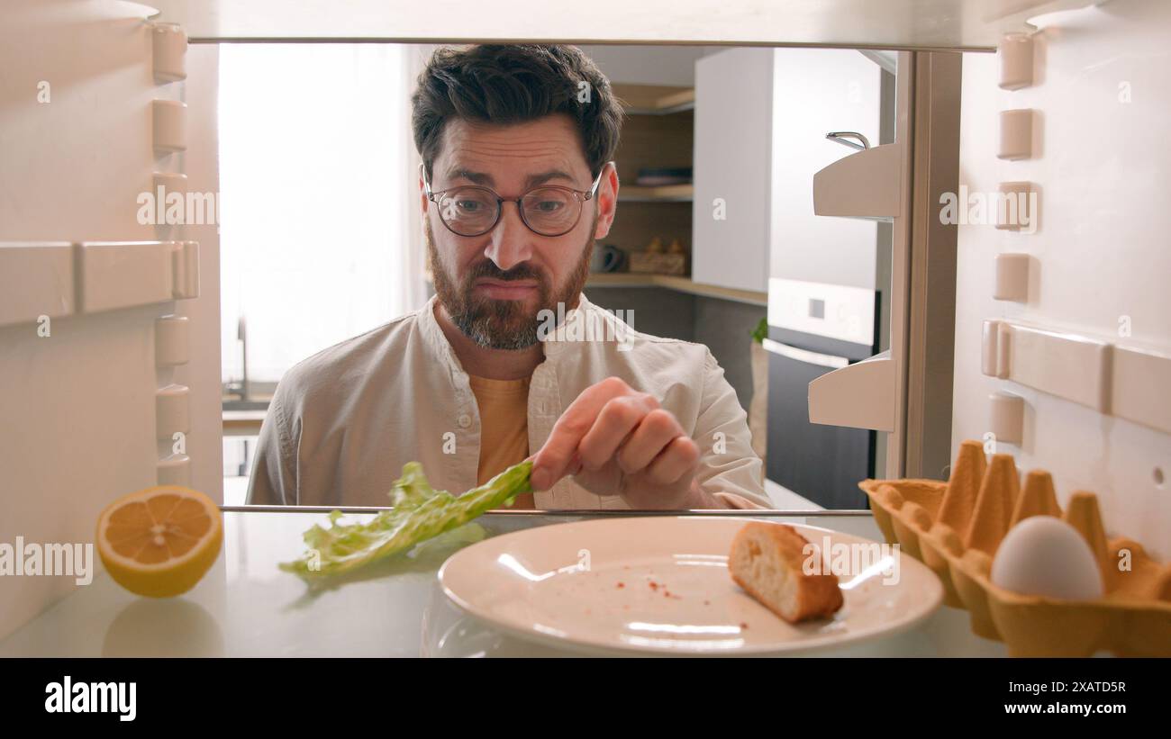
[[[1076,529],[1053,516],[1013,526],[992,560],[992,582],[1022,595],[1059,600],[1102,598],[1102,572]]]

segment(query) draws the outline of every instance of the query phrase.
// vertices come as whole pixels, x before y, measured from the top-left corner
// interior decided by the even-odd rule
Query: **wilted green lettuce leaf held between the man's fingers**
[[[329,513],[329,527],[314,524],[304,532],[308,552],[301,559],[281,562],[280,568],[302,578],[350,572],[372,561],[406,552],[445,531],[463,526],[485,511],[512,505],[529,492],[532,461],[500,472],[479,488],[461,496],[434,490],[418,462],[403,467],[403,476],[390,491],[393,509],[382,511],[364,524],[341,524],[341,511]]]

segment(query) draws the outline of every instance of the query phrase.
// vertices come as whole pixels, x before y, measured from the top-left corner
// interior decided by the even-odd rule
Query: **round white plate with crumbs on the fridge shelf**
[[[893,560],[888,560],[861,573],[851,569],[838,578],[845,603],[833,619],[789,624],[728,574],[732,538],[747,520],[683,516],[539,526],[457,552],[439,581],[456,606],[495,628],[591,652],[774,655],[837,648],[909,629],[943,602],[939,579],[913,558],[881,552],[861,537],[793,524],[819,546],[828,537],[828,551],[840,562],[862,545],[897,558],[897,568],[889,569]]]

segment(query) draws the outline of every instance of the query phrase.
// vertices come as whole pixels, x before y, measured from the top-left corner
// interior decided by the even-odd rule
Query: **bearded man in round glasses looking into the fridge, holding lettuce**
[[[458,493],[533,456],[518,507],[768,506],[711,352],[582,295],[617,208],[623,115],[594,63],[445,48],[412,103],[436,297],[285,374],[248,502],[385,505],[412,460]]]

